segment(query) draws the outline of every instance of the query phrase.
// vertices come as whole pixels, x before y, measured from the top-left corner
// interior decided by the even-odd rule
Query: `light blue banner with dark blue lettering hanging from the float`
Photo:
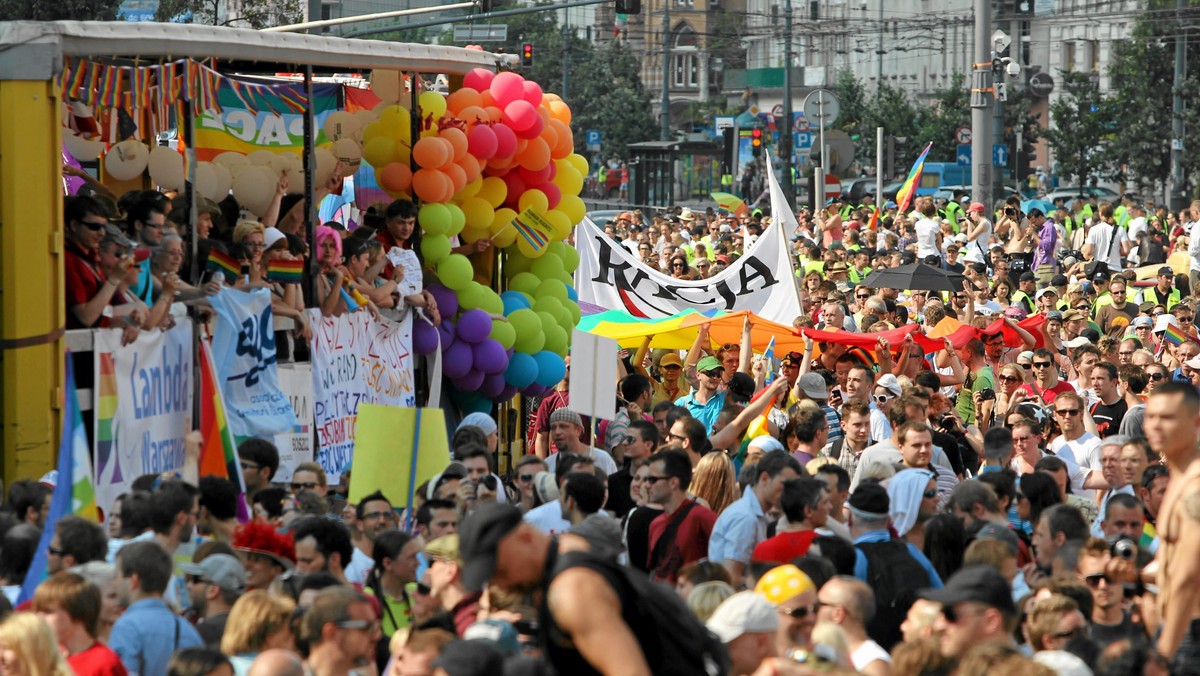
[[[296,426],[292,402],[280,389],[275,369],[275,327],[271,292],[266,288],[223,288],[210,297],[217,311],[212,359],[229,414],[229,430],[241,443],[247,437],[274,439]]]

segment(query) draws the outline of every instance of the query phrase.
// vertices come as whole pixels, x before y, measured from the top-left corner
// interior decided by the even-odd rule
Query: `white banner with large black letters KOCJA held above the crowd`
[[[638,261],[628,249],[605,237],[590,219],[575,229],[580,267],[575,289],[581,301],[635,317],[658,319],[686,309],[755,315],[791,325],[800,315],[796,275],[787,245],[772,223],[746,256],[707,280],[677,280]]]

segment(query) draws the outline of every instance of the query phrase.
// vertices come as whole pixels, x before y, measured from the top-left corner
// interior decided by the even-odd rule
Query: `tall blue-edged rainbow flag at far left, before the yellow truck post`
[[[68,515],[82,516],[89,521],[100,521],[96,510],[96,491],[91,478],[91,449],[88,445],[88,431],[83,426],[79,413],[79,397],[76,395],[74,359],[71,351],[66,357],[66,389],[64,390],[62,438],[59,442],[58,480],[50,497],[50,512],[46,516],[46,527],[37,543],[34,562],[25,573],[20,585],[17,603],[34,598],[34,590],[46,579],[48,550],[54,539],[54,526]]]

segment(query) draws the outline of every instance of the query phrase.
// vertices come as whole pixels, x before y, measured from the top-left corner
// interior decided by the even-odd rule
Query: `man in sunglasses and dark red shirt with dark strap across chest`
[[[683,451],[652,455],[646,483],[650,485],[650,502],[662,505],[662,514],[650,521],[650,576],[674,585],[679,568],[708,556],[716,514],[688,498],[691,461]]]

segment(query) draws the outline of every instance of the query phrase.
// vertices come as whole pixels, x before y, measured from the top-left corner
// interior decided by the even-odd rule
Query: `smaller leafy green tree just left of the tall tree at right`
[[[1063,72],[1062,96],[1050,106],[1051,125],[1040,134],[1050,144],[1057,173],[1064,180],[1078,178],[1081,185],[1105,175],[1102,144],[1108,133],[1108,106],[1096,80],[1085,73]]]

